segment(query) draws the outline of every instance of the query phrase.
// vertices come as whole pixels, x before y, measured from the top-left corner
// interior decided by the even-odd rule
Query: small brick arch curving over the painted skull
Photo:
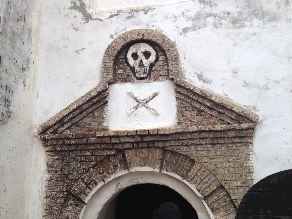
[[[139,40],[159,45],[167,56],[169,78],[181,77],[180,58],[175,44],[163,33],[153,29],[135,29],[114,39],[106,48],[102,58],[101,83],[114,83],[114,59],[127,44]]]

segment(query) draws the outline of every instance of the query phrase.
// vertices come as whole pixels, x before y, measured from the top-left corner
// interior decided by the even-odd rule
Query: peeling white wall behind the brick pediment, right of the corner
[[[96,11],[94,0],[83,3],[44,3],[38,124],[99,83],[112,39],[131,29],[157,29],[175,42],[187,81],[264,120],[253,141],[255,180],[292,168],[288,1],[190,1],[105,11]],[[86,50],[77,54],[80,48]]]

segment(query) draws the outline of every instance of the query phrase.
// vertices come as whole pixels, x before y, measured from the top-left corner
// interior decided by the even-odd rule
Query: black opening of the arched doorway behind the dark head
[[[182,219],[197,219],[191,204],[173,189],[157,184],[138,184],[126,188],[117,196],[115,219],[151,219],[153,211],[164,202],[174,202]]]

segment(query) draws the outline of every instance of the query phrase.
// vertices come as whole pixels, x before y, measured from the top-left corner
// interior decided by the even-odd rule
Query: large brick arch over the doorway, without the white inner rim
[[[84,173],[70,190],[58,218],[79,218],[93,193],[109,179],[141,167],[180,176],[201,194],[215,218],[235,217],[236,207],[230,195],[202,164],[161,148],[137,148],[106,157]]]

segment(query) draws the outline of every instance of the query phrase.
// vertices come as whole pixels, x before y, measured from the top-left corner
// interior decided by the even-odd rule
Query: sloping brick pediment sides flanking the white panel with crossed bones
[[[182,79],[174,79],[177,127],[256,123],[258,116]],[[108,84],[100,84],[42,124],[38,133],[108,131]],[[209,127],[208,129],[210,129]]]

